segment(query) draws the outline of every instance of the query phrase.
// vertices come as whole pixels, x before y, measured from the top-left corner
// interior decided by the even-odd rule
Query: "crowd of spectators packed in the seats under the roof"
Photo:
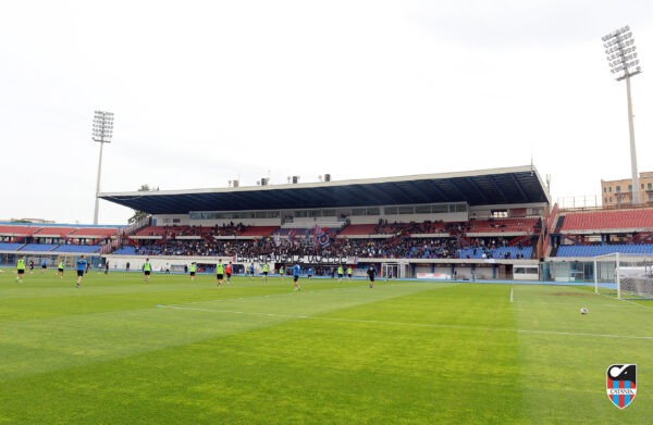
[[[263,236],[251,239],[219,239],[213,235],[236,236],[246,226],[242,224],[231,226],[209,227],[211,232],[197,230],[193,234],[189,226],[177,235],[201,235],[199,239],[174,239],[174,232],[168,233],[170,237],[161,239],[134,239],[136,254],[143,255],[192,255],[192,257],[245,257],[261,258],[268,255],[321,255],[328,258],[358,257],[379,259],[465,259],[465,258],[530,258],[533,239],[527,238],[518,243],[510,243],[512,238],[497,235],[495,237],[469,238],[465,236],[468,228],[460,223],[379,223],[374,232],[381,238],[332,238],[329,243],[319,245],[311,234],[301,236]],[[412,237],[411,235],[420,235]],[[426,236],[442,235],[443,236]],[[523,239],[521,239],[523,240]],[[513,245],[510,251],[505,248]],[[508,252],[506,254],[506,252]],[[507,255],[507,257],[506,257]]]

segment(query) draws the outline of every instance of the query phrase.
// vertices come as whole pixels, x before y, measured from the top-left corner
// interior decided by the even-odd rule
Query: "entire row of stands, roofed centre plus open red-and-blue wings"
[[[183,271],[295,262],[320,275],[590,282],[592,258],[653,257],[653,209],[558,209],[531,166],[375,179],[257,185],[100,198],[147,218],[131,226],[0,223],[0,259]]]

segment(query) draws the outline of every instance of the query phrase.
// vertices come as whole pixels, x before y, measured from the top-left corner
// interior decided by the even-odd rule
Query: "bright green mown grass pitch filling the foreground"
[[[0,274],[0,424],[649,423],[653,303],[589,288]],[[512,295],[512,296],[510,296]],[[589,309],[581,315],[581,307]],[[607,399],[611,364],[638,395]]]

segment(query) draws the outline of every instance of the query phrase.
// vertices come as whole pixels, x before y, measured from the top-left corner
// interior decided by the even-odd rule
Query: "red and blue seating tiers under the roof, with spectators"
[[[497,232],[491,221],[484,225],[485,236],[468,238],[469,223],[378,223],[347,225],[337,232],[329,228],[329,241],[319,247],[320,254],[361,258],[421,258],[454,259],[485,257],[530,259],[533,238],[529,232],[506,235]],[[516,218],[506,222],[510,229],[533,228],[537,237],[537,218]],[[503,229],[505,227],[500,227]],[[178,233],[178,234],[177,234]],[[260,254],[315,254],[318,250],[312,227],[278,226],[149,226],[132,238],[128,246],[114,251],[123,255],[260,255]],[[202,235],[200,237],[199,235]],[[209,236],[210,235],[210,236]],[[152,236],[148,238],[148,236]],[[180,237],[181,236],[181,237]],[[188,237],[197,236],[197,237]],[[510,242],[515,240],[514,246]],[[461,250],[465,247],[467,250]],[[473,247],[477,247],[475,250]],[[503,249],[500,249],[503,248]],[[467,257],[469,255],[469,257]]]

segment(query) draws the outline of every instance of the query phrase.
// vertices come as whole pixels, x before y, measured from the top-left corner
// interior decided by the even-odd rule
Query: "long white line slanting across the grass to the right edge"
[[[594,338],[653,340],[653,336],[590,334],[590,333],[572,333],[572,332],[557,332],[557,330],[507,329],[507,328],[502,328],[502,327],[439,325],[439,324],[430,324],[430,323],[402,323],[402,322],[386,322],[386,321],[369,321],[369,320],[362,320],[362,318],[338,318],[338,317],[308,316],[308,315],[298,315],[298,314],[276,314],[276,313],[258,313],[258,312],[246,312],[246,311],[234,311],[234,310],[196,309],[196,308],[177,307],[177,305],[161,305],[161,304],[159,304],[157,307],[160,309],[201,311],[201,312],[208,312],[208,313],[246,314],[246,315],[255,315],[255,316],[269,316],[269,317],[283,317],[283,318],[307,318],[307,320],[326,321],[326,322],[369,323],[369,324],[374,324],[374,325],[393,325],[393,326],[406,326],[406,327],[431,327],[431,328],[441,328],[441,329],[465,329],[465,330],[483,330],[483,332],[514,332],[517,334],[542,334],[542,335],[559,335],[559,336],[577,336],[577,337],[594,337]]]

